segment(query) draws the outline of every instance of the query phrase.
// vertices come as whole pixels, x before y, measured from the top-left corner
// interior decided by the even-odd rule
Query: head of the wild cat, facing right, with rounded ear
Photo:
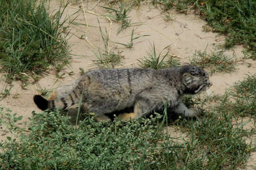
[[[196,94],[212,86],[208,73],[202,68],[184,65],[182,67],[182,80],[185,85],[185,93]]]

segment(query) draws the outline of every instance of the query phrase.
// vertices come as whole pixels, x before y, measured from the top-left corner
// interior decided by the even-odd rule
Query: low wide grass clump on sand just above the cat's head
[[[214,50],[207,53],[207,47],[203,52],[195,51],[193,58],[190,60],[192,65],[208,69],[211,75],[217,72],[233,72],[236,70],[235,65],[237,62],[235,54],[227,56],[224,50]]]

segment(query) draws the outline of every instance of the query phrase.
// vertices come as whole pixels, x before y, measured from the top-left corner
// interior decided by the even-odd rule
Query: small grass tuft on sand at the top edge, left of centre
[[[109,17],[114,19],[115,22],[121,23],[121,27],[118,29],[117,34],[119,34],[122,30],[128,28],[131,25],[131,19],[129,19],[128,14],[130,13],[132,6],[126,7],[125,4],[121,1],[119,10],[108,8],[108,7],[102,7],[106,8],[115,14],[113,15],[110,13]]]

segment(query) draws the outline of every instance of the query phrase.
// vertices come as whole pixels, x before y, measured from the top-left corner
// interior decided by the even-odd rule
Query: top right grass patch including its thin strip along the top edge
[[[176,9],[181,13],[198,11],[213,32],[227,35],[224,47],[237,44],[256,52],[256,1],[255,0],[152,0],[163,10]]]

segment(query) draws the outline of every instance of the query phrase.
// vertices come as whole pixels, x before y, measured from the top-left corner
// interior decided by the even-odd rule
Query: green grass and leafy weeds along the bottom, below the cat
[[[255,110],[256,75],[247,76],[229,89],[230,97],[246,100]],[[246,95],[240,93],[246,91]],[[244,93],[243,93],[244,94]],[[59,111],[33,112],[28,131],[17,126],[22,117],[0,108],[0,124],[16,138],[0,143],[1,169],[97,169],[97,170],[237,170],[244,168],[250,152],[256,151],[245,142],[255,133],[246,130],[246,123],[236,126],[240,119],[235,109],[248,110],[247,104],[234,100],[226,105],[222,97],[189,99],[189,105],[201,107],[214,100],[197,119],[173,119],[168,110],[154,118],[132,121],[114,120],[97,123],[93,117],[75,126]],[[221,99],[221,100],[220,100]],[[222,100],[223,99],[223,100]],[[243,101],[244,102],[244,101]],[[229,102],[230,103],[230,102]],[[228,108],[225,108],[228,107]],[[253,108],[254,107],[254,108]],[[251,114],[252,112],[250,112]],[[169,115],[169,116],[167,116]],[[242,115],[243,116],[243,115]],[[254,114],[252,114],[254,116]],[[162,118],[161,118],[162,117]],[[175,142],[167,125],[187,134]],[[1,125],[2,126],[2,125]]]

